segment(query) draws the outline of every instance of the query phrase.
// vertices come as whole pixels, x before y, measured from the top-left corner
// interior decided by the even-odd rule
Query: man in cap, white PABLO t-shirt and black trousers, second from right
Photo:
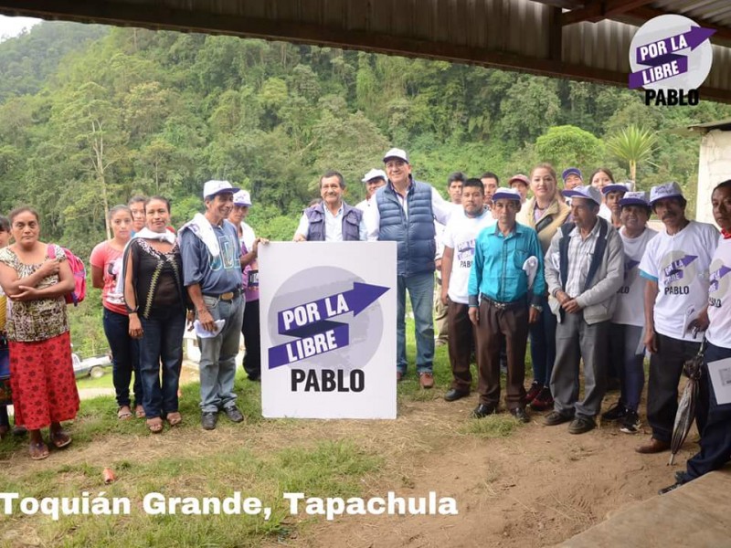
[[[658,184],[650,191],[652,211],[665,230],[647,244],[640,263],[646,279],[645,346],[651,352],[647,420],[652,438],[638,453],[670,448],[683,364],[698,353],[703,339],[698,332],[708,326],[708,275],[718,231],[685,218],[686,204],[677,183]],[[701,434],[708,409],[706,387],[700,383],[695,413]]]

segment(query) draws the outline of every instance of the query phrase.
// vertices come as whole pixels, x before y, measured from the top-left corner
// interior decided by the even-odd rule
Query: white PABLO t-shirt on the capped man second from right
[[[655,332],[673,339],[700,342],[687,331],[708,301],[708,269],[718,231],[713,225],[690,221],[677,234],[661,232],[647,244],[640,263],[641,276],[656,279]]]

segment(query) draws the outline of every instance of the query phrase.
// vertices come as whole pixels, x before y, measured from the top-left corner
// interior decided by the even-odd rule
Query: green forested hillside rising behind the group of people
[[[318,174],[342,171],[355,203],[390,146],[441,190],[455,170],[505,177],[539,160],[620,179],[628,167],[604,142],[635,123],[658,137],[640,186],[692,188],[698,140],[664,130],[731,117],[705,100],[651,108],[629,90],[446,62],[57,22],[0,43],[0,71],[0,212],[37,207],[42,237],[82,258],[109,205],[167,195],[179,226],[210,178],[251,190],[251,224],[290,239]]]

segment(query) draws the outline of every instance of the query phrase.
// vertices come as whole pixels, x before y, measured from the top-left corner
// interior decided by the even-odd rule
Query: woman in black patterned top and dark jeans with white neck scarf
[[[130,336],[140,341],[140,373],[147,427],[163,431],[183,418],[177,388],[183,363],[185,288],[175,233],[168,229],[170,202],[153,196],[145,203],[147,226],[124,252],[124,300],[130,314]],[[160,366],[163,382],[160,383]]]

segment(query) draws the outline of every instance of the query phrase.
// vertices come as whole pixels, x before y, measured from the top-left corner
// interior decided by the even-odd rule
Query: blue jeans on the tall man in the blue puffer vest
[[[417,339],[417,372],[431,373],[434,362],[434,273],[421,272],[413,276],[397,276],[396,368],[406,373],[406,291],[414,311]]]

